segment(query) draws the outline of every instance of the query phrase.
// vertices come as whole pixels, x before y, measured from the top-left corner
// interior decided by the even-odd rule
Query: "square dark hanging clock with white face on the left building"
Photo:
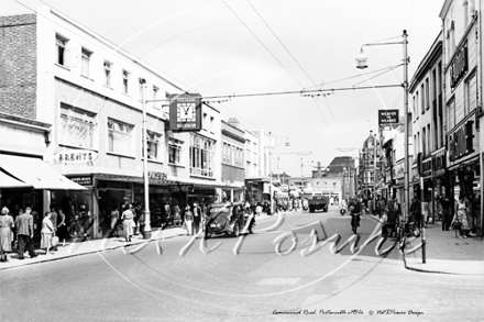
[[[198,93],[170,95],[169,130],[175,132],[201,130],[201,97]]]

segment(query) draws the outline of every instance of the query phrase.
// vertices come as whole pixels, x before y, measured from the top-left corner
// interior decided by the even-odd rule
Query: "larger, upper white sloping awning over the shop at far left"
[[[86,190],[85,187],[67,179],[40,158],[0,155],[0,168],[35,189]]]

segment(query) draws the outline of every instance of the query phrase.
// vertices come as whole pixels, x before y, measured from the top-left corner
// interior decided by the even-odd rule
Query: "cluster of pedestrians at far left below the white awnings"
[[[41,249],[45,255],[57,251],[58,241],[63,241],[65,246],[67,238],[66,216],[62,210],[55,209],[47,211],[42,220],[41,227]],[[16,251],[19,259],[24,259],[25,252],[31,258],[36,257],[34,249],[34,215],[32,207],[20,209],[19,214],[13,219],[9,208],[3,207],[0,215],[0,252],[1,262],[9,260],[7,253]]]

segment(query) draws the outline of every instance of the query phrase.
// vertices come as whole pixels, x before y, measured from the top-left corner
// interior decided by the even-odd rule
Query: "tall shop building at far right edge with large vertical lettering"
[[[473,218],[471,226],[483,235],[482,149],[482,1],[447,0],[440,11],[443,36],[443,104],[447,135],[448,192],[454,201],[464,195]],[[452,204],[452,213],[454,207]]]

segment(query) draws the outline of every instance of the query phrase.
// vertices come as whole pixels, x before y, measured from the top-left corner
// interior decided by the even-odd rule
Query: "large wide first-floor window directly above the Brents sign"
[[[96,127],[96,114],[61,103],[61,144],[95,148]]]

